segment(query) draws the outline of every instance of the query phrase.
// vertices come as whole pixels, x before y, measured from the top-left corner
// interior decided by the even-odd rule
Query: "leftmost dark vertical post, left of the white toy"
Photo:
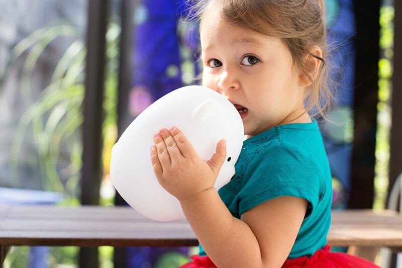
[[[108,0],[88,0],[81,204],[98,205]],[[80,267],[98,267],[97,248],[81,248]]]

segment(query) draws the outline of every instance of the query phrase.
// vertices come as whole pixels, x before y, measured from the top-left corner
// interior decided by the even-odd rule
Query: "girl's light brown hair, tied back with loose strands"
[[[315,108],[312,116],[321,115],[327,119],[335,101],[333,90],[336,86],[329,80],[323,0],[192,0],[187,19],[200,20],[213,2],[219,5],[222,16],[235,25],[281,38],[290,51],[293,66],[312,82],[307,87],[307,112]],[[323,53],[322,58],[311,54],[322,61],[315,79],[308,74],[311,66],[305,62],[314,45]]]

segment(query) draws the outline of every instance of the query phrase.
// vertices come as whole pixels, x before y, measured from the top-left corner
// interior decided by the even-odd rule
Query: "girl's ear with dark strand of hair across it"
[[[324,64],[324,62],[321,61],[322,57],[323,52],[319,46],[314,45],[313,47],[311,47],[309,53],[305,56],[304,59],[303,67],[305,71],[302,71],[299,74],[299,86],[305,87],[313,83],[318,75],[318,71],[320,70],[321,65]]]

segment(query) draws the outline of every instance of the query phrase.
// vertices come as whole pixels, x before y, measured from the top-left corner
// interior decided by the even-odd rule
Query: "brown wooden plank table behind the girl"
[[[402,249],[402,217],[393,211],[333,211],[332,246],[373,260],[379,247]],[[0,264],[9,246],[195,246],[187,221],[154,222],[130,207],[0,205]],[[374,256],[374,257],[373,257]]]

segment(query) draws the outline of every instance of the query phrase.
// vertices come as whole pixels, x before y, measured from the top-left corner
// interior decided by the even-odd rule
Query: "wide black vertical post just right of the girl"
[[[349,208],[372,208],[377,129],[380,0],[354,1],[355,116]]]

